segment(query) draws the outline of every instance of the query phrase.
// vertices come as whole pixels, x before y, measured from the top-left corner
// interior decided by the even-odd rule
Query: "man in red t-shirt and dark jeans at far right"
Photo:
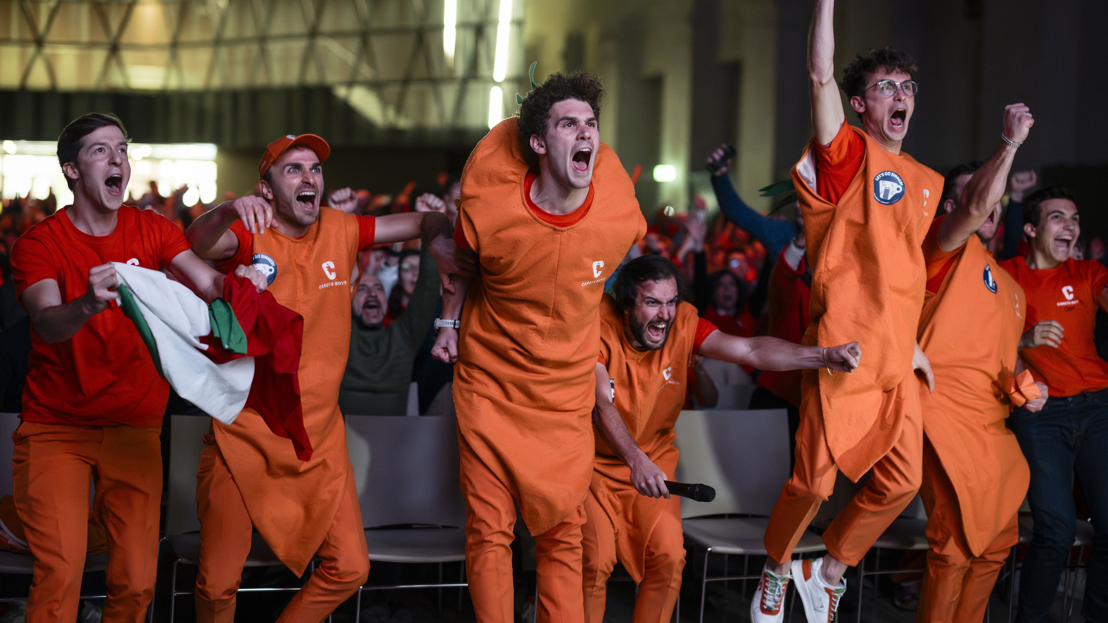
[[[1074,544],[1075,470],[1095,530],[1083,614],[1108,620],[1108,362],[1092,341],[1097,308],[1108,309],[1108,269],[1069,259],[1081,231],[1078,218],[1065,188],[1032,194],[1024,203],[1030,252],[1001,262],[1027,294],[1019,356],[1050,395],[1043,411],[1018,408],[1008,419],[1032,471],[1027,498],[1035,529],[1019,577],[1019,620],[1028,623],[1047,620]]]

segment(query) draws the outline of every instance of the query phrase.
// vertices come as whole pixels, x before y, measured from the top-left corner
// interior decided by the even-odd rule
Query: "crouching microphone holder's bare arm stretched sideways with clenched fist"
[[[700,354],[714,360],[747,364],[759,370],[814,370],[853,372],[862,360],[858,342],[838,346],[803,346],[777,338],[738,338],[714,331],[700,344]]]

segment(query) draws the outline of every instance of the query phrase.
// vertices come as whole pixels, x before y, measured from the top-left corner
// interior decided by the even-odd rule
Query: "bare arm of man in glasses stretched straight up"
[[[808,93],[812,127],[820,145],[830,145],[847,121],[834,82],[834,0],[817,0],[808,33]]]

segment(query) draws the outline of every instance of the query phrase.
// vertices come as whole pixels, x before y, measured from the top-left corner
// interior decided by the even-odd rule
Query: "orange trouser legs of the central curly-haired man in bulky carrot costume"
[[[465,496],[465,571],[473,610],[481,623],[513,623],[512,532],[515,500],[507,487],[458,434],[461,486]],[[556,476],[552,476],[556,477]],[[581,528],[585,503],[535,537],[540,623],[582,623]]]

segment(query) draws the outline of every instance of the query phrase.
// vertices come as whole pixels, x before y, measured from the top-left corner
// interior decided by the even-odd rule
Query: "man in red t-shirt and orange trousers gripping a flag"
[[[107,529],[105,621],[137,621],[154,595],[162,500],[158,433],[170,385],[116,301],[109,262],[167,269],[208,301],[224,277],[153,210],[123,206],[127,135],[110,114],[78,117],[58,138],[73,205],[16,241],[16,293],[31,318],[22,423],[12,436],[16,509],[34,555],[27,620],[73,621],[89,523]],[[236,274],[260,276],[245,268]]]

